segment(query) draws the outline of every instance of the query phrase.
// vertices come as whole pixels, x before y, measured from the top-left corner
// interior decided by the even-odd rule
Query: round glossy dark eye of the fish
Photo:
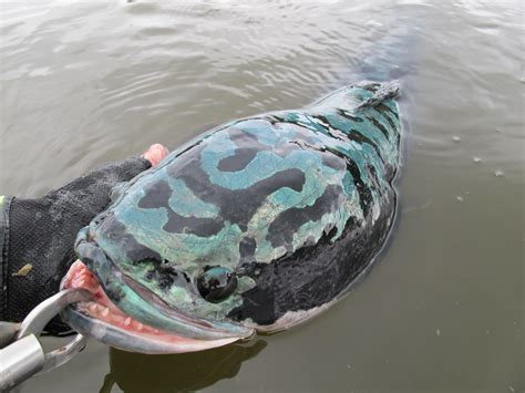
[[[197,277],[197,289],[200,296],[218,303],[227,299],[237,288],[237,276],[222,266],[205,267]]]

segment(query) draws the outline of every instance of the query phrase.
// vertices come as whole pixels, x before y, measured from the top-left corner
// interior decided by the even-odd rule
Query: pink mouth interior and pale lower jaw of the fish
[[[96,277],[80,260],[62,280],[62,289],[81,288],[94,300],[68,307],[63,319],[76,331],[111,347],[142,353],[185,353],[229,344],[246,337],[202,340],[184,337],[141,322],[120,310],[102,289]]]

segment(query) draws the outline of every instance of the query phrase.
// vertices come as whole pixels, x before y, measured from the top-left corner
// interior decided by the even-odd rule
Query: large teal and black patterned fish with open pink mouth
[[[182,353],[294,328],[378,259],[397,211],[398,81],[215,127],[116,185],[76,238],[63,319],[111,347]]]

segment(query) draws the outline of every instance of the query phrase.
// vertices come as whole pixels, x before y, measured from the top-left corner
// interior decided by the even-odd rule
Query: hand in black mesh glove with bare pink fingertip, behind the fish
[[[75,260],[78,231],[109,205],[111,188],[131,180],[166,155],[167,149],[156,144],[141,157],[95,169],[41,198],[12,198],[0,258],[0,321],[21,321],[56,293]],[[51,333],[65,330],[69,327],[56,318],[47,327]]]

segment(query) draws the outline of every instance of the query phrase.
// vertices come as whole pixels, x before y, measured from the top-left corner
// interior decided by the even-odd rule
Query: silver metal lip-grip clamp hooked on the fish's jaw
[[[44,354],[38,337],[65,307],[92,299],[93,294],[90,291],[72,288],[37,306],[20,325],[17,341],[0,350],[0,391],[12,389],[38,373],[54,370],[83,350],[86,339],[82,334],[76,334],[64,347]]]

